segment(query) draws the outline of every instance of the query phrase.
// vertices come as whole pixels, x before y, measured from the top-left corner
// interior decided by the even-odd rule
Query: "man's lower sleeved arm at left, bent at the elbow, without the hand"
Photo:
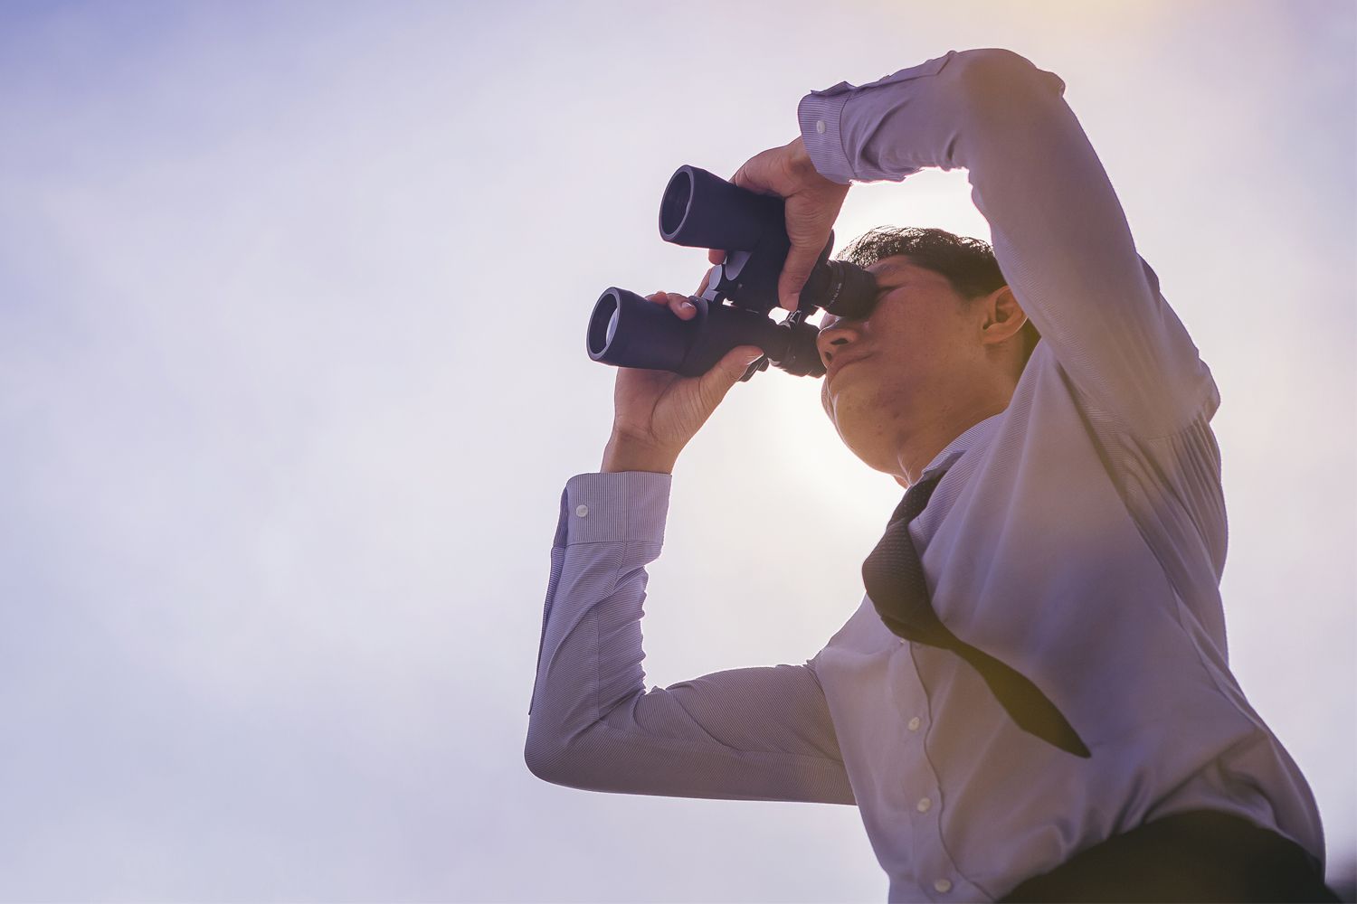
[[[578,474],[551,550],[524,749],[548,782],[596,792],[852,804],[813,665],[741,668],[645,689],[645,567],[670,476]]]

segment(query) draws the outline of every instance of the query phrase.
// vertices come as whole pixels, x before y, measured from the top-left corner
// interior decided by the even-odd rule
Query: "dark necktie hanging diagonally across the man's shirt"
[[[897,637],[950,649],[966,660],[1008,712],[1018,728],[1076,756],[1088,748],[1041,689],[997,659],[958,638],[938,618],[924,567],[909,538],[909,522],[928,504],[942,473],[919,481],[905,493],[886,526],[886,534],[862,564],[862,580],[877,614]]]

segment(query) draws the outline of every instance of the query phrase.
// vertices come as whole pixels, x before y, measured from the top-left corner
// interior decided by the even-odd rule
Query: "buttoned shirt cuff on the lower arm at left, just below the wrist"
[[[575,474],[560,493],[555,545],[664,543],[672,481],[647,470]]]

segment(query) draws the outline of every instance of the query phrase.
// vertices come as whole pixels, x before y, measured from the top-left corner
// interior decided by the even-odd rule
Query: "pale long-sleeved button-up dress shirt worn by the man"
[[[646,691],[645,567],[672,477],[628,472],[578,474],[562,495],[525,748],[536,775],[856,804],[892,901],[995,900],[1187,809],[1236,813],[1323,861],[1310,787],[1228,665],[1216,384],[1063,91],[1007,50],[951,52],[813,92],[799,122],[836,182],[968,171],[1042,340],[1008,408],[924,470],[946,476],[909,531],[943,622],[1035,682],[1091,756],[1018,729],[972,668],[902,642],[866,596],[805,664]]]

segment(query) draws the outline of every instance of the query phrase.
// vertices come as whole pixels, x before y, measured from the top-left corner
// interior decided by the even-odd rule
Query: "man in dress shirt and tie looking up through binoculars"
[[[951,52],[813,92],[801,137],[735,175],[787,199],[788,309],[851,180],[966,168],[993,256],[940,230],[851,249],[881,293],[826,317],[822,400],[909,492],[805,665],[646,693],[670,473],[753,350],[700,378],[619,371],[601,473],[562,497],[536,775],[856,804],[893,901],[1335,900],[1310,789],[1228,668],[1216,385],[1063,89]]]

